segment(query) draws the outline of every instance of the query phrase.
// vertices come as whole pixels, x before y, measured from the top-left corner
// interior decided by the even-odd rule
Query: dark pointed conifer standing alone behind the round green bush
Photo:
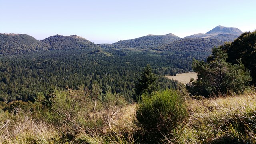
[[[148,64],[141,74],[141,78],[138,78],[138,82],[135,84],[135,100],[140,99],[140,95],[144,92],[151,94],[158,90],[156,84],[156,76],[152,73],[152,68]]]

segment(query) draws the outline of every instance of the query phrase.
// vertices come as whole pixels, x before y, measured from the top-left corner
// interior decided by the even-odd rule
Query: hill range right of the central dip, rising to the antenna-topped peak
[[[180,38],[174,34],[162,36],[148,35],[131,40],[123,40],[113,44],[102,44],[102,48],[132,49],[132,50],[160,50],[160,51],[204,51],[211,52],[214,46],[224,42],[232,42],[242,34],[238,28],[217,26],[206,34],[194,34]]]

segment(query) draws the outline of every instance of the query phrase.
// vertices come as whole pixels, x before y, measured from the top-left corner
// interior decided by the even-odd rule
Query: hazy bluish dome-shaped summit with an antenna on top
[[[233,34],[233,35],[240,35],[243,32],[238,28],[228,28],[224,26],[216,26],[206,34]]]

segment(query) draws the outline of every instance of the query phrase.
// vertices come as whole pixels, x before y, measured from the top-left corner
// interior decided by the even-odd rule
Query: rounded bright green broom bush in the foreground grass
[[[142,94],[135,116],[136,124],[142,127],[145,134],[152,140],[157,140],[182,126],[188,114],[182,94],[165,90]]]

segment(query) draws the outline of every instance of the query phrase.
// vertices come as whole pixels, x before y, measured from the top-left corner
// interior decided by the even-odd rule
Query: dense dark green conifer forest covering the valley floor
[[[124,50],[94,51],[58,50],[33,55],[0,58],[1,101],[33,100],[38,92],[51,88],[92,87],[97,82],[105,91],[134,95],[134,83],[142,69],[150,64],[158,75],[162,89],[177,88],[178,82],[161,75],[192,71],[192,57],[204,58],[203,53],[133,52]]]

